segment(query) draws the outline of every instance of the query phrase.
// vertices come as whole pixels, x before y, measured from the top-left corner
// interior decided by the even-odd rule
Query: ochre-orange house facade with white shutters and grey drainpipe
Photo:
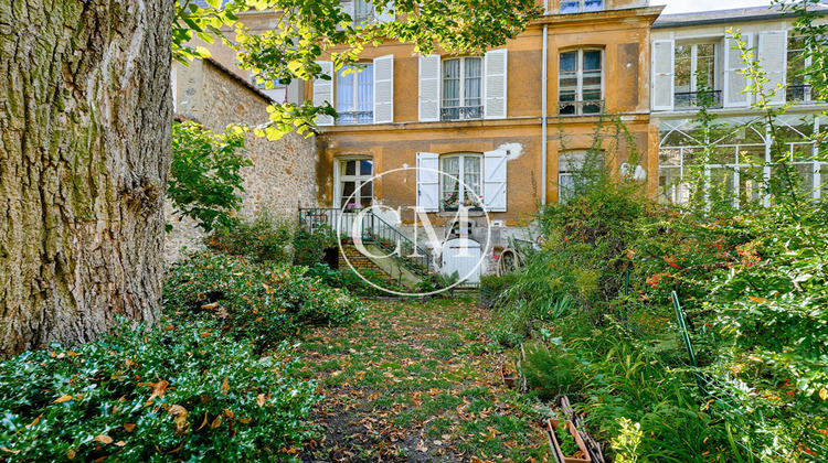
[[[364,0],[346,6],[371,9]],[[399,211],[386,222],[408,236],[426,219],[413,207],[438,230],[456,227],[457,209],[468,207],[461,228],[480,239],[481,203],[496,225],[490,243],[508,246],[510,237],[522,237],[519,223],[558,201],[564,159],[594,148],[601,120],[623,121],[640,153],[636,162],[657,171],[657,158],[647,154],[657,146],[649,44],[661,7],[641,0],[545,7],[517,39],[481,56],[418,56],[412,45],[388,42],[365,50],[361,72],[320,61],[332,79],[308,85],[305,97],[339,112],[317,120],[320,205]],[[607,162],[626,162],[626,148]],[[655,175],[648,182],[655,194]]]

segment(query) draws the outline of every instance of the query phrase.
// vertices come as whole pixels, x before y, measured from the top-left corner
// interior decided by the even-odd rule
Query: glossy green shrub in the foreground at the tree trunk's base
[[[258,461],[311,435],[321,398],[294,362],[258,359],[211,324],[121,324],[100,342],[0,364],[0,459]]]

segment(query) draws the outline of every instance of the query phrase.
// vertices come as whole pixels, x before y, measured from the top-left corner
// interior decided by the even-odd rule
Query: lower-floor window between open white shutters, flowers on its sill
[[[479,207],[482,200],[482,157],[449,154],[440,158],[440,209]],[[463,180],[464,183],[458,182]]]

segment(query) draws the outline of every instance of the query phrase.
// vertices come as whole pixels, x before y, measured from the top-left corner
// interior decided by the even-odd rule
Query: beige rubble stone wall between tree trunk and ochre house
[[[176,111],[220,132],[231,123],[255,127],[268,120],[270,99],[221,64],[201,60],[185,67],[174,64]],[[252,218],[266,209],[295,217],[297,208],[317,206],[316,137],[290,133],[270,141],[253,133],[245,140],[245,155],[253,165],[242,170],[245,192],[240,215]],[[168,262],[180,258],[182,247],[202,247],[203,233],[190,219],[179,220],[167,207],[173,232],[167,236]]]

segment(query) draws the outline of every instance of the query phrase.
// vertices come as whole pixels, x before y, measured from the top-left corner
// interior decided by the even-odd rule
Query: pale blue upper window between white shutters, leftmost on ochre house
[[[337,76],[337,123],[372,123],[374,120],[373,64],[343,66]]]

